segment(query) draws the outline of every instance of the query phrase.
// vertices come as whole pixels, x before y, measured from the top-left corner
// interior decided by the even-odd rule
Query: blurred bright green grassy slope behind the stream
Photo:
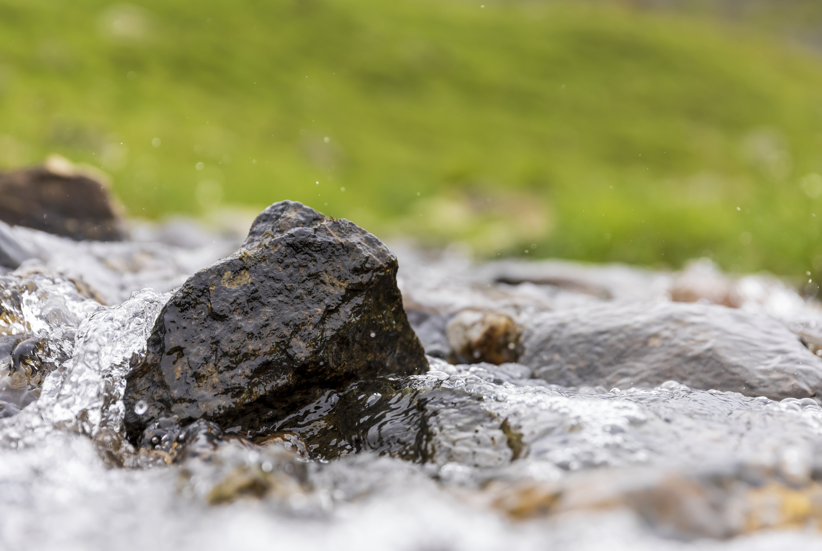
[[[94,164],[136,216],[290,198],[489,256],[820,273],[820,123],[817,53],[699,15],[0,0],[0,166]]]

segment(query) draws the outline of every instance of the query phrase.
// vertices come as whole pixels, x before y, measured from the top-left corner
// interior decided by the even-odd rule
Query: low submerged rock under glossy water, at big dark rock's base
[[[267,432],[296,437],[308,456],[326,461],[373,451],[417,463],[498,467],[518,456],[521,442],[512,442],[506,419],[483,406],[480,392],[443,384],[444,376],[380,377],[327,391]]]

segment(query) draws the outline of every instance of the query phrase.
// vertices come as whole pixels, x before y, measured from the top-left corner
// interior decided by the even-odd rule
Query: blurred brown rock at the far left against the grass
[[[0,197],[0,220],[8,224],[76,240],[123,238],[104,183],[76,173],[67,161],[0,175]]]

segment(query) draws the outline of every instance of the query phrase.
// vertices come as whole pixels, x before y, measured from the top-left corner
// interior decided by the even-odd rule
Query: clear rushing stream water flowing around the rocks
[[[779,280],[706,261],[682,273],[476,265],[396,245],[428,373],[326,393],[270,436],[201,424],[136,450],[125,377],[166,293],[236,243],[14,232],[34,258],[0,275],[2,549],[822,547],[815,396],[561,387],[537,364],[447,361],[470,336],[453,329],[465,311],[527,335],[547,314],[679,299],[775,320],[812,364],[822,311]],[[515,356],[529,341],[512,335]]]

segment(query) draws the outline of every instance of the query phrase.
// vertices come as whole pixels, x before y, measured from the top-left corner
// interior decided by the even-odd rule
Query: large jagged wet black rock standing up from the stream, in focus
[[[158,419],[248,435],[351,382],[427,369],[372,234],[292,201],[254,221],[242,248],[173,294],[127,378],[132,441]]]

